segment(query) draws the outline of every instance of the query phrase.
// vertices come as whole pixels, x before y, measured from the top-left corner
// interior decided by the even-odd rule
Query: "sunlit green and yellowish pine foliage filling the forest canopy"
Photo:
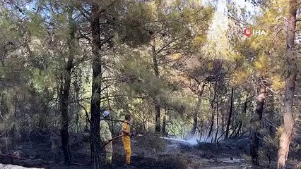
[[[221,17],[213,6],[192,0],[93,2],[101,9],[105,6],[100,13],[103,44],[99,46],[102,77],[98,83],[102,87],[101,107],[114,112],[114,118],[131,113],[139,130],[153,130],[154,99],[158,99],[160,120],[165,117],[168,134],[186,137],[195,112],[201,132],[207,132],[213,114],[213,130],[219,120],[223,132],[230,107],[229,89],[234,87],[237,93],[230,130],[242,123],[243,133],[254,112],[255,101],[250,95],[259,82],[267,82],[275,101],[282,99],[286,68],[281,17],[287,11],[286,1],[265,4],[256,16],[250,15],[247,8],[229,5],[229,18]],[[71,131],[83,131],[88,126],[85,115],[90,115],[92,86],[88,4],[20,1],[17,5],[24,8],[24,14],[12,8],[15,4],[10,1],[1,4],[5,5],[0,7],[0,132],[59,127],[60,89],[70,55],[70,127]],[[28,6],[40,7],[28,10]],[[71,8],[74,11],[70,17]],[[69,23],[70,18],[74,23]],[[235,18],[244,23],[237,24]],[[73,24],[76,34],[71,42]],[[266,36],[241,37],[239,30],[249,26],[265,30]],[[159,75],[155,75],[154,58]],[[196,110],[201,92],[200,108]],[[244,112],[246,95],[249,100]],[[266,107],[272,107],[270,102]],[[276,105],[271,109],[277,114],[280,108]],[[150,135],[149,139],[155,142],[158,138]]]

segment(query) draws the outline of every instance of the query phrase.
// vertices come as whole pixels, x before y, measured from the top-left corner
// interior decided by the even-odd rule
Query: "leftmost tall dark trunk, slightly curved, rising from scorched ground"
[[[64,70],[64,84],[61,92],[61,149],[64,153],[64,163],[66,165],[71,165],[71,153],[69,146],[69,93],[71,86],[71,69],[73,68],[73,58],[74,58],[74,39],[76,26],[72,18],[73,8],[69,9],[69,57]]]

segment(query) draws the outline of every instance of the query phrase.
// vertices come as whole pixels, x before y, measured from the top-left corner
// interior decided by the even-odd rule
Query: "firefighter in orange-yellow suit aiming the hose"
[[[124,150],[126,153],[126,165],[131,163],[131,115],[126,114],[124,123],[122,123],[122,144],[124,144]]]

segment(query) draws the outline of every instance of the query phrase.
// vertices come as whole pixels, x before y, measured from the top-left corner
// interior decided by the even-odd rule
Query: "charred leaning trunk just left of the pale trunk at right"
[[[264,98],[266,97],[266,87],[264,84],[259,86],[259,94],[256,101],[255,115],[251,120],[253,125],[250,130],[250,154],[252,157],[252,164],[259,165],[259,130],[261,127],[262,112],[264,111]]]

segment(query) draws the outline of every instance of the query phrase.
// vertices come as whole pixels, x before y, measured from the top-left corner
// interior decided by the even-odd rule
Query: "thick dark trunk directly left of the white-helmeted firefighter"
[[[100,17],[98,4],[92,4],[91,8],[91,31],[92,31],[92,96],[90,104],[90,146],[91,146],[91,169],[100,169],[100,93],[101,93],[101,56],[100,56]]]

